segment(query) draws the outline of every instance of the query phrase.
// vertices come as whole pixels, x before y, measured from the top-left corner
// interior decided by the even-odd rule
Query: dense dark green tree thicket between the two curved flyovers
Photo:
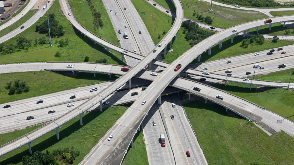
[[[191,46],[214,34],[212,31],[199,28],[198,23],[192,21],[183,21],[182,27],[185,28],[183,31],[186,34],[185,39],[189,41]]]

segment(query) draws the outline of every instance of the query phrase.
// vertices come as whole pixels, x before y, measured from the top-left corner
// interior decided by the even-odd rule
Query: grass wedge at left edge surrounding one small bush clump
[[[116,78],[118,76],[112,75],[110,79],[107,74],[100,73],[97,73],[96,77],[94,77],[93,73],[86,72],[81,72],[74,78],[49,71],[2,73],[0,74],[0,104],[115,80]],[[8,95],[9,90],[5,89],[6,83],[9,81],[14,82],[18,79],[26,81],[30,91]]]

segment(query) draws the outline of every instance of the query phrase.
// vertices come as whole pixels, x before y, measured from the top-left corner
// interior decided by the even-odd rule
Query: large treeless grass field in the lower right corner
[[[293,164],[294,138],[285,132],[268,136],[254,123],[228,116],[220,105],[193,101],[183,107],[208,164]]]

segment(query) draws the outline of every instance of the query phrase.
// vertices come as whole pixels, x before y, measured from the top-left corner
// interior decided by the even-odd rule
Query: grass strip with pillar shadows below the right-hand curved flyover
[[[243,39],[244,39],[243,36],[240,36],[240,37],[235,36],[233,43],[231,43],[231,38],[228,38],[227,40],[223,40],[222,49],[218,48],[219,44],[217,44],[216,46],[213,46],[211,49],[211,55],[208,55],[208,51],[206,51],[206,53],[201,54],[200,62],[216,60],[219,58],[225,58],[225,57],[230,57],[230,56],[240,55],[240,54],[255,53],[258,51],[263,51],[267,49],[294,44],[293,41],[283,40],[283,41],[278,41],[277,43],[273,43],[269,40],[265,40],[265,43],[261,46],[250,44],[248,48],[243,48],[240,46],[240,43]],[[193,63],[197,63],[197,59],[193,60],[191,64]]]

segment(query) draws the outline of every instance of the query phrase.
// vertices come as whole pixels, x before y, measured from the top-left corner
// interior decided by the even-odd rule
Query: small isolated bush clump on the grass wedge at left
[[[25,81],[15,80],[6,83],[6,90],[9,90],[9,95],[21,94],[22,92],[29,92],[30,88],[26,85]]]

